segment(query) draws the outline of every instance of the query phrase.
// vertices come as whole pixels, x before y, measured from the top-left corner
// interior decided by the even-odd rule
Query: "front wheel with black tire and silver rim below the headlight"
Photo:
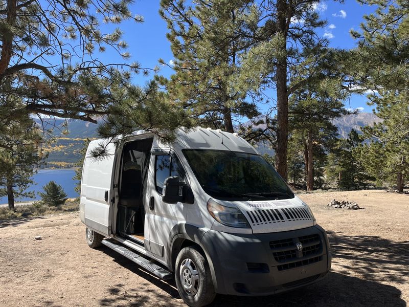
[[[214,300],[216,293],[209,264],[197,247],[183,248],[177,255],[175,268],[176,287],[186,304],[202,307]]]

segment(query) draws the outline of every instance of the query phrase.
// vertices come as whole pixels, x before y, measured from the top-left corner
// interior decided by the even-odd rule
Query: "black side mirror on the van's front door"
[[[180,181],[178,176],[168,177],[164,182],[162,201],[168,204],[177,202],[193,204],[192,189],[185,182]]]

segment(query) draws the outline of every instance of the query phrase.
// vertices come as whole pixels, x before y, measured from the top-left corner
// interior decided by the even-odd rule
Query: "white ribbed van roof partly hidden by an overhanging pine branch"
[[[150,134],[146,130],[137,130],[132,133],[132,136]],[[132,137],[130,136],[130,137]],[[89,143],[88,151],[91,148],[99,146],[101,143],[106,144],[107,139],[94,140]],[[231,151],[242,151],[248,153],[258,154],[257,150],[250,145],[243,138],[238,136],[237,133],[228,133],[220,129],[211,129],[211,128],[178,128],[176,130],[176,140],[171,144],[175,149],[215,149],[215,150],[231,150]],[[115,145],[109,144],[107,146],[108,151],[115,151]],[[169,144],[166,144],[161,141],[156,141],[153,144],[153,147],[169,147]],[[112,152],[113,153],[113,152]]]

